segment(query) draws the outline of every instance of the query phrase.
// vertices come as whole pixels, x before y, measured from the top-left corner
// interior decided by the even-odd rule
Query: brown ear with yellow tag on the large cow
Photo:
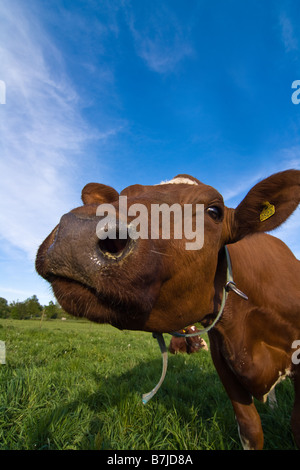
[[[300,171],[275,173],[257,183],[234,211],[228,211],[230,241],[281,225],[300,202]]]

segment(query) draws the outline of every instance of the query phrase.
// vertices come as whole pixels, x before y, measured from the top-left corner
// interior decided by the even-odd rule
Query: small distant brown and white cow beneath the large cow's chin
[[[170,344],[169,344],[169,351],[171,354],[177,353],[187,353],[193,354],[195,352],[204,349],[204,351],[208,351],[208,347],[206,342],[200,335],[196,336],[185,336],[189,334],[198,333],[200,330],[196,328],[194,325],[188,326],[183,330],[178,331],[179,335],[183,336],[173,336]]]

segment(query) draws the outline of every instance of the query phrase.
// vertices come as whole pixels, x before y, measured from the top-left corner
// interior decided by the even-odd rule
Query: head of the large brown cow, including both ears
[[[72,315],[122,329],[169,332],[216,311],[216,296],[225,283],[220,273],[222,248],[284,222],[300,201],[300,171],[284,171],[261,181],[236,209],[225,207],[213,187],[187,175],[156,186],[129,186],[121,196],[127,197],[129,214],[125,238],[119,235],[122,226],[124,237],[118,192],[103,184],[88,184],[82,191],[84,205],[65,214],[39,248],[37,271]],[[96,213],[99,205],[105,209],[103,204],[115,209],[115,226],[110,228],[116,236],[99,239],[96,231],[105,214]],[[149,236],[131,238],[136,208],[145,207],[142,225],[153,204],[189,205],[194,226],[196,204],[203,205],[197,206],[204,208],[203,246],[186,249],[190,240],[184,231],[178,239],[172,230],[171,239],[151,237],[151,223],[146,224]],[[162,228],[160,223],[159,235]]]

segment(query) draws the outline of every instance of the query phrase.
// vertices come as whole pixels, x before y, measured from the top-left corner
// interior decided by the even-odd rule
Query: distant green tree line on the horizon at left
[[[23,302],[13,301],[8,303],[0,297],[0,318],[12,318],[15,320],[29,320],[31,318],[68,318],[68,314],[58,303],[50,300],[48,305],[41,305],[36,295]]]

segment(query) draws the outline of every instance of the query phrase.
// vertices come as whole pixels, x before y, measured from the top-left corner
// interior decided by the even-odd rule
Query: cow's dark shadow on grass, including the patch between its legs
[[[207,354],[207,353],[205,353]],[[158,382],[161,360],[141,362],[120,374],[93,372],[98,390],[81,391],[75,400],[58,405],[43,414],[30,437],[30,447],[62,449],[63,437],[55,430],[66,421],[66,436],[73,421],[85,410],[84,436],[73,439],[76,449],[155,449],[206,448],[240,449],[231,403],[215,371],[201,361],[186,356],[169,356],[167,376],[159,392],[147,405],[142,393]],[[278,407],[258,404],[265,432],[265,448],[294,449],[289,418],[293,397],[291,388],[280,384]],[[282,409],[284,408],[284,412]],[[55,444],[53,444],[55,443]],[[199,443],[199,444],[197,444]]]

